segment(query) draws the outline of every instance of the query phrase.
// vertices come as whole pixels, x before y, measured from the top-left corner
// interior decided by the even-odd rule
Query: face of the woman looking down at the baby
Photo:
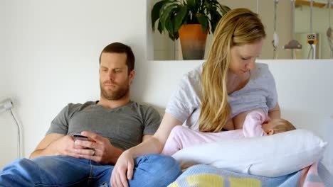
[[[255,69],[255,59],[260,55],[263,47],[263,39],[240,46],[231,47],[229,70],[238,75],[245,74]]]

